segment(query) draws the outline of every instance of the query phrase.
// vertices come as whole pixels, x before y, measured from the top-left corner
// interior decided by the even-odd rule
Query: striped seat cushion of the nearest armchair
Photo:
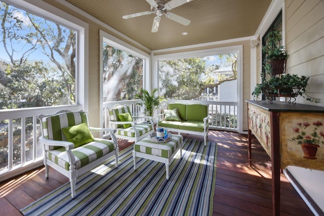
[[[99,138],[95,138],[93,142],[74,148],[72,152],[76,161],[75,168],[78,169],[85,166],[97,158],[112,152],[114,149],[114,145],[110,140]],[[46,151],[46,157],[64,169],[69,170],[69,159],[64,147]]]

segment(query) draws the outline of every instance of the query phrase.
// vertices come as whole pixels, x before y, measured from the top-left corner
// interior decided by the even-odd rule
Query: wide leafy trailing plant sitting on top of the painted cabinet
[[[299,77],[296,74],[272,76],[269,80],[264,80],[262,83],[257,84],[252,95],[258,97],[263,93],[270,102],[272,97],[295,98],[302,96],[307,101],[319,103],[319,99],[312,98],[307,94],[306,87],[308,80],[309,77],[304,75]]]

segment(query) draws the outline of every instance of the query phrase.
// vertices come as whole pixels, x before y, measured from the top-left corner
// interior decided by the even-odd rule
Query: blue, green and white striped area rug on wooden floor
[[[133,169],[133,146],[114,159],[77,178],[76,197],[70,184],[21,209],[24,215],[212,215],[216,180],[217,144],[185,139],[166,167],[139,158]]]

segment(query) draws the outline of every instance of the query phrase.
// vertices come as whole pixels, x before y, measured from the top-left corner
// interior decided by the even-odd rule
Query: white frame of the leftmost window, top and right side
[[[89,110],[88,94],[88,56],[89,56],[89,25],[64,11],[61,11],[43,1],[29,0],[2,0],[12,6],[30,12],[39,17],[58,23],[76,32],[76,64],[75,64],[75,104],[83,106],[83,110]]]

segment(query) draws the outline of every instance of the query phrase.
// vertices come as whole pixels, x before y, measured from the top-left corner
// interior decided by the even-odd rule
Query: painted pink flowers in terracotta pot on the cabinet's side
[[[293,128],[293,131],[297,134],[296,137],[293,137],[293,141],[297,141],[298,145],[301,145],[304,152],[304,158],[307,159],[316,159],[316,152],[319,148],[318,144],[323,144],[324,141],[321,141],[324,138],[324,128],[323,131],[317,130],[323,125],[321,121],[316,121],[312,123],[313,129],[310,130],[308,127],[310,123],[308,122],[298,122],[297,127]]]

